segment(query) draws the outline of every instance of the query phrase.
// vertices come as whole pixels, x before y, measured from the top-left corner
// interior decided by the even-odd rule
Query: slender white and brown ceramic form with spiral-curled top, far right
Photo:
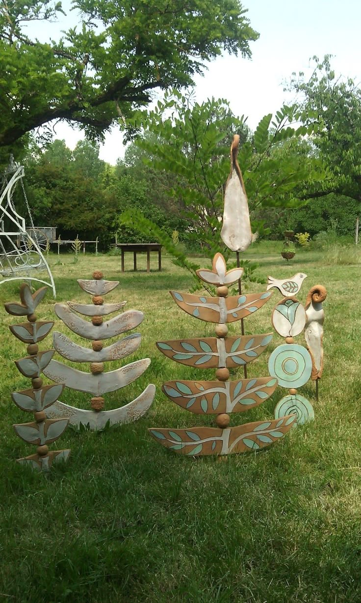
[[[316,381],[316,398],[318,399],[318,380],[323,370],[323,322],[324,310],[322,301],[326,300],[327,291],[323,285],[313,286],[306,298],[306,326],[304,338],[312,359],[311,379]]]

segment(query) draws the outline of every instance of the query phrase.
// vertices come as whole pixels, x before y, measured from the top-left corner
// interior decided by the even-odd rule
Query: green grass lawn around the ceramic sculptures
[[[119,279],[107,301],[128,300],[126,309],[144,312],[138,327],[142,344],[122,361],[149,357],[152,364],[134,384],[106,394],[106,408],[117,408],[156,385],[147,416],[104,432],[67,429],[51,449],[70,447],[69,463],[47,479],[15,462],[35,452],[11,425],[31,420],[11,401],[11,391],[30,387],[14,360],[26,355],[8,325],[17,321],[2,304],[17,300],[19,283],[0,287],[2,317],[0,600],[19,603],[359,603],[361,601],[361,311],[359,265],[325,265],[322,254],[298,252],[286,264],[274,245],[251,248],[259,276],[308,275],[301,294],[326,285],[325,369],[315,401],[314,384],[299,391],[311,400],[315,421],[293,429],[260,452],[217,458],[187,458],[159,446],[149,427],[214,425],[179,408],[161,392],[170,379],[212,379],[214,371],[184,367],[156,350],[161,339],[211,336],[212,324],[177,308],[169,289],[187,291],[192,279],[164,258],[162,273],[120,273],[118,256],[51,256],[57,301],[88,303],[77,278],[95,268]],[[156,263],[154,262],[154,265]],[[208,262],[205,262],[207,265]],[[138,267],[145,268],[145,258]],[[261,291],[262,285],[247,289]],[[278,292],[254,316],[246,333],[271,332]],[[39,306],[40,320],[56,318],[49,291]],[[84,340],[55,321],[55,329]],[[240,324],[230,326],[230,335]],[[304,344],[303,336],[297,343]],[[282,338],[248,365],[248,376],[267,376],[267,361]],[[86,343],[85,343],[86,345]],[[51,347],[51,337],[40,344]],[[119,366],[120,363],[114,363]],[[84,370],[88,368],[84,365]],[[113,368],[111,364],[107,369]],[[233,371],[242,377],[242,369]],[[273,417],[273,397],[231,425]],[[87,408],[91,396],[65,391],[62,400]]]

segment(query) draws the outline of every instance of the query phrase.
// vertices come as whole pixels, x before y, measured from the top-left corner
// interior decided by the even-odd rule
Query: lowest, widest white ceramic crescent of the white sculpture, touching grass
[[[46,415],[48,418],[69,418],[71,425],[76,427],[89,425],[91,430],[96,431],[104,429],[108,421],[110,425],[137,421],[152,405],[154,396],[155,385],[150,384],[135,400],[111,411],[94,412],[93,410],[68,406],[58,401],[46,410]]]

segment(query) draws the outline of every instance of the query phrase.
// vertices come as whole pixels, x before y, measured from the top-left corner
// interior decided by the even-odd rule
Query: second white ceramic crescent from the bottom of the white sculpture
[[[70,390],[84,391],[94,396],[102,396],[108,391],[120,390],[129,385],[144,373],[150,365],[149,358],[143,358],[127,364],[125,367],[117,368],[108,373],[91,374],[83,373],[76,368],[68,367],[62,362],[52,360],[43,373],[55,381],[69,387]]]

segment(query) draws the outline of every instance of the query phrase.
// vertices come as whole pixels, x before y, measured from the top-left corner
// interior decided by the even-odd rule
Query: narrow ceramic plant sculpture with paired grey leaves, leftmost
[[[21,303],[11,301],[5,304],[8,314],[14,316],[26,316],[27,323],[13,324],[9,328],[11,333],[28,344],[26,351],[28,356],[20,358],[15,362],[17,369],[25,377],[31,378],[32,387],[28,390],[18,391],[11,394],[13,401],[19,408],[26,412],[34,412],[35,421],[14,425],[16,434],[37,446],[36,454],[17,459],[18,463],[26,464],[38,471],[49,471],[52,464],[58,461],[66,461],[70,450],[49,451],[48,444],[57,440],[67,427],[67,418],[56,418],[48,420],[45,411],[54,404],[57,397],[63,391],[64,385],[46,385],[40,377],[42,371],[51,362],[54,350],[39,352],[38,342],[42,341],[51,331],[54,323],[37,321],[34,312],[47,291],[42,287],[31,294],[29,286],[20,285]]]

